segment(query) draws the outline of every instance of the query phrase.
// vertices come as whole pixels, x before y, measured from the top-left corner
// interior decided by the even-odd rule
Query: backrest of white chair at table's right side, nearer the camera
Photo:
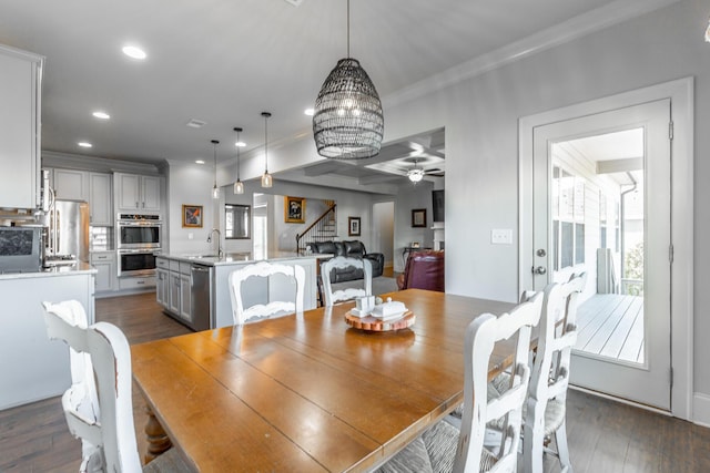
[[[464,414],[454,463],[455,472],[478,471],[481,457],[495,459],[495,471],[516,472],[523,404],[527,398],[530,368],[530,333],[538,323],[542,295],[496,317],[484,313],[466,329],[464,339]],[[488,363],[497,341],[517,336],[510,388],[488,398]],[[484,452],[486,424],[501,422],[503,435],[495,451]]]

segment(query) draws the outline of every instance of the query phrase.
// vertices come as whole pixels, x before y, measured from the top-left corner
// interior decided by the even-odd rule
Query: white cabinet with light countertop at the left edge
[[[37,273],[0,274],[0,410],[69,388],[69,348],[47,337],[42,302],[75,299],[93,323],[95,273],[79,261]]]

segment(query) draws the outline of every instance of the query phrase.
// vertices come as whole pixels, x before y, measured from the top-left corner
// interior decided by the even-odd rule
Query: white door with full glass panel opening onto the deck
[[[670,101],[534,128],[532,284],[587,271],[571,382],[670,409]]]

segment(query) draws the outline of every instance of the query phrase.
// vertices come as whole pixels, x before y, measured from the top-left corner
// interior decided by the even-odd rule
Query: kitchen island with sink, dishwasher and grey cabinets
[[[302,266],[306,274],[304,310],[317,306],[317,261],[329,255],[298,256],[276,255],[268,263]],[[232,299],[229,277],[242,266],[257,263],[248,254],[214,255],[160,255],[155,258],[158,304],[169,316],[193,330],[207,330],[232,326]],[[245,306],[265,304],[270,296],[280,297],[293,289],[278,277],[254,278],[244,284]],[[292,292],[291,292],[292,294]]]

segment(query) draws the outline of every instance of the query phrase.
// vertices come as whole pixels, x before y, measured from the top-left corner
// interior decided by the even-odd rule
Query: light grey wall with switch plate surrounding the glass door
[[[446,126],[447,291],[517,298],[517,241],[491,246],[491,228],[517,235],[517,131],[521,116],[683,76],[696,78],[694,154],[710,154],[710,4],[686,0],[386,110],[387,140]],[[710,232],[710,161],[694,161],[694,238]],[[710,248],[694,248],[694,390],[710,393]],[[696,407],[699,410],[698,407]],[[707,405],[702,408],[707,410]]]

